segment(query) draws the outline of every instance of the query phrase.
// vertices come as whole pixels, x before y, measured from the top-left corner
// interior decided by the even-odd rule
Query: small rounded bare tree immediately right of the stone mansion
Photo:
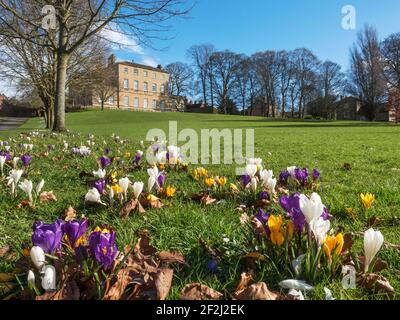
[[[190,92],[193,70],[189,65],[182,62],[170,63],[165,70],[169,73],[169,94],[182,96]]]

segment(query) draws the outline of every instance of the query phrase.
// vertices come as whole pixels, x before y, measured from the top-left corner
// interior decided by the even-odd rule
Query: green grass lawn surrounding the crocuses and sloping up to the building
[[[193,128],[197,132],[211,128],[255,129],[255,155],[263,159],[265,167],[272,169],[275,175],[290,165],[318,168],[322,174],[320,195],[324,204],[334,216],[335,228],[343,227],[346,232],[360,232],[367,229],[366,217],[362,214],[359,194],[374,193],[377,197],[370,216],[377,216],[383,222],[377,226],[385,240],[399,243],[400,238],[400,127],[387,123],[365,122],[314,122],[314,121],[274,121],[257,117],[183,114],[183,113],[139,113],[129,111],[85,111],[67,115],[67,126],[72,132],[82,133],[79,140],[85,143],[85,134],[103,136],[108,140],[111,134],[128,138],[132,142],[131,152],[139,148],[139,141],[145,140],[149,129],[160,128],[168,134],[168,121],[176,120],[178,130]],[[0,132],[0,140],[18,137],[18,133],[42,127],[42,120],[31,119],[21,128]],[[102,139],[97,138],[96,148],[102,150]],[[53,144],[60,146],[60,138],[53,138]],[[46,142],[47,145],[47,142]],[[115,147],[115,146],[114,146]],[[60,147],[59,147],[60,148]],[[42,150],[44,151],[44,150]],[[54,151],[54,155],[57,155]],[[96,157],[101,151],[81,160],[65,157],[53,161],[52,157],[32,160],[31,178],[46,180],[45,190],[54,190],[58,201],[29,208],[16,209],[17,200],[9,198],[5,184],[0,184],[0,247],[12,245],[18,251],[30,241],[31,225],[34,220],[47,222],[63,215],[72,205],[79,214],[84,214],[96,223],[108,223],[116,227],[118,242],[123,244],[136,241],[135,231],[146,228],[150,231],[154,245],[159,250],[179,250],[190,268],[175,273],[174,286],[170,298],[179,297],[182,287],[190,282],[202,282],[216,290],[232,292],[238,282],[243,266],[232,259],[223,270],[212,275],[206,264],[209,260],[199,244],[199,238],[212,246],[221,246],[226,235],[231,241],[240,244],[244,239],[240,233],[239,214],[235,210],[237,203],[226,203],[200,207],[188,201],[187,195],[196,191],[193,182],[185,174],[168,176],[168,183],[177,186],[180,193],[174,199],[173,206],[162,211],[149,211],[145,216],[134,215],[123,221],[117,210],[85,206],[83,204],[87,185],[79,182],[79,172],[91,172],[96,167]],[[72,159],[72,160],[71,160]],[[80,165],[79,170],[75,165]],[[343,164],[351,165],[344,170]],[[192,167],[193,168],[193,167]],[[228,165],[210,165],[208,169],[215,175],[225,175],[230,181],[234,176],[234,167]],[[131,180],[146,181],[145,173],[133,173]],[[145,180],[146,179],[146,180]],[[20,199],[21,200],[21,199]],[[346,208],[357,213],[352,219],[345,213]],[[362,240],[357,239],[356,247],[361,250]],[[383,249],[379,257],[388,261],[390,268],[382,272],[391,285],[400,288],[400,253],[395,249]],[[0,272],[10,271],[12,263],[0,262]],[[277,277],[273,267],[265,263],[260,266],[256,280],[265,281],[271,288],[277,288]],[[339,280],[333,284],[325,283],[332,289],[337,299],[381,299],[380,294],[366,293],[361,289],[346,291]],[[323,299],[323,284],[317,287],[310,298]],[[397,296],[398,298],[398,296]]]

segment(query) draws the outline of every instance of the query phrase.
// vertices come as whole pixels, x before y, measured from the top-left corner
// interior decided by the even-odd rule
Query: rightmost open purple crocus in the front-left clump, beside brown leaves
[[[105,269],[109,269],[118,253],[115,243],[115,231],[97,231],[89,236],[89,249],[96,261]]]

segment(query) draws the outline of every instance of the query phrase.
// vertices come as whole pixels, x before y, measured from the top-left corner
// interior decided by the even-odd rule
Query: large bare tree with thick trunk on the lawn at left
[[[150,43],[169,30],[172,17],[187,13],[185,0],[0,0],[0,34],[20,38],[47,48],[57,57],[54,130],[65,130],[65,92],[68,61],[88,39],[113,24],[134,36],[140,43]],[[55,30],[43,25],[42,8],[55,9]],[[20,28],[20,23],[25,24]],[[47,25],[48,26],[48,25]],[[32,37],[32,33],[38,36]],[[54,34],[57,36],[54,37]],[[45,38],[46,41],[37,41]]]

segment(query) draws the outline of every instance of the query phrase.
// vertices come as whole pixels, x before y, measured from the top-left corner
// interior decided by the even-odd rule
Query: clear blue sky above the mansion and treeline
[[[341,27],[345,5],[356,9],[356,30]],[[363,25],[375,25],[384,38],[400,32],[399,14],[399,0],[198,0],[189,18],[174,23],[174,38],[155,43],[166,50],[118,50],[117,55],[165,65],[186,61],[186,50],[193,44],[212,43],[219,50],[248,55],[307,47],[320,59],[347,68],[349,48]]]

